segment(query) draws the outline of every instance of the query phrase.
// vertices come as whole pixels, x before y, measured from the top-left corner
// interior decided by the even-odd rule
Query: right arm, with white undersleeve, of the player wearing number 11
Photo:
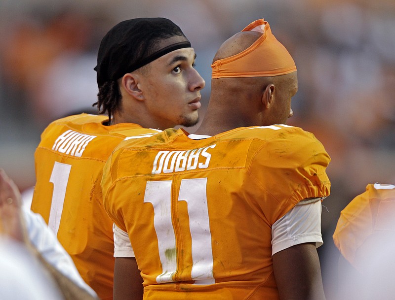
[[[316,247],[321,199],[300,201],[272,227],[273,269],[281,300],[325,300]]]

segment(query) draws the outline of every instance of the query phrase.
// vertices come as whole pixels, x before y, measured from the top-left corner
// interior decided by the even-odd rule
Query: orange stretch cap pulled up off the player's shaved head
[[[244,51],[215,61],[211,65],[212,78],[265,77],[296,71],[291,55],[272,34],[269,23],[264,19],[252,22],[242,31],[263,34]]]

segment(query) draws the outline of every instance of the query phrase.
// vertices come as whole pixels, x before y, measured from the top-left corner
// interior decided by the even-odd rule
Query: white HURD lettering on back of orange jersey
[[[81,157],[88,143],[95,137],[96,135],[83,134],[68,130],[55,140],[52,150]]]

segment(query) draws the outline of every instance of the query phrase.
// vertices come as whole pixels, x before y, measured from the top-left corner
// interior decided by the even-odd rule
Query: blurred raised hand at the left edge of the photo
[[[0,234],[29,244],[21,206],[22,197],[18,187],[0,169]]]

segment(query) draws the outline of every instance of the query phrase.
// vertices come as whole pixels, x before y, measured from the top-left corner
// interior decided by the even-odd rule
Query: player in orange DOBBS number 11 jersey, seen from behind
[[[104,206],[144,300],[325,299],[316,247],[330,158],[312,133],[286,125],[297,88],[292,57],[259,19],[215,55],[195,134],[118,145]]]

